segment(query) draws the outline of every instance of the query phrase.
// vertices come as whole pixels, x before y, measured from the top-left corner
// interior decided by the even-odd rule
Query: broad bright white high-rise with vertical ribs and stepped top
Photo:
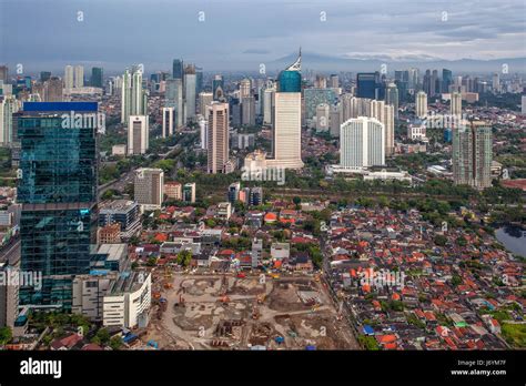
[[[352,118],[342,123],[340,165],[360,169],[385,164],[384,125],[375,118]]]

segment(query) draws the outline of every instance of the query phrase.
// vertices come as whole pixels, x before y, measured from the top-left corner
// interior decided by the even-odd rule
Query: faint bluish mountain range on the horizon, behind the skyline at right
[[[280,58],[266,63],[267,70],[283,70],[293,63],[297,53]],[[421,71],[448,69],[454,72],[464,73],[487,73],[503,71],[503,64],[507,64],[508,73],[526,73],[526,58],[504,58],[492,60],[459,59],[445,60],[428,55],[406,55],[399,58],[391,57],[331,57],[311,52],[302,53],[302,69],[316,71],[351,71],[351,72],[373,72],[380,71],[382,64],[387,64],[387,71],[406,70],[408,68],[418,68]]]

